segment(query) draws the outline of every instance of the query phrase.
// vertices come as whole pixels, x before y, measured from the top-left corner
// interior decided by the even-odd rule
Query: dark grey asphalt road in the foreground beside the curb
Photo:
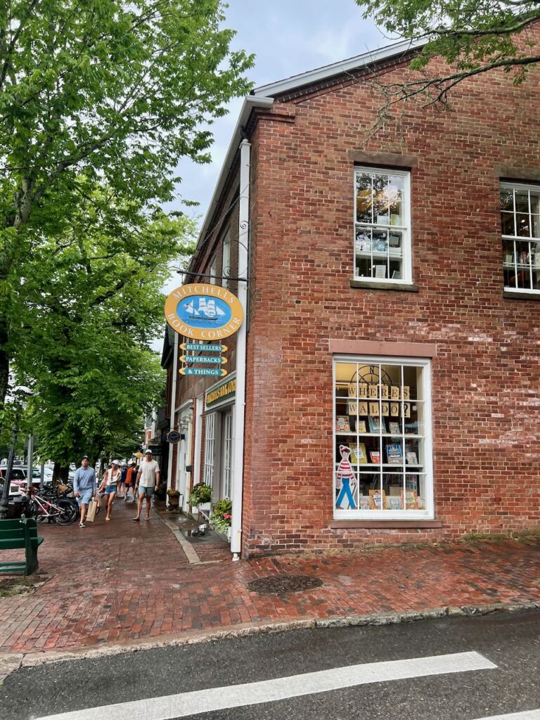
[[[350,685],[353,665],[380,662],[386,670],[388,661],[427,657],[421,662],[429,672],[436,665],[431,656],[460,654],[461,658],[462,653],[480,657],[487,667],[384,682],[378,681],[377,671],[376,681]],[[345,687],[323,691],[321,681],[318,691],[310,689],[308,680],[313,682],[313,676],[306,673],[336,668],[343,669],[323,672],[315,676],[315,682],[319,678],[325,682],[326,675],[332,675],[341,678],[338,683]],[[179,715],[171,714],[171,707],[179,712],[179,704],[175,700],[169,714],[161,714],[158,698],[304,675],[291,681],[296,688],[292,694],[308,694],[181,716],[192,720],[473,720],[537,709],[536,719],[540,717],[539,670],[540,613],[289,631],[23,668],[0,688],[0,718],[35,720],[76,711],[73,720],[84,720],[84,708],[135,701],[127,709],[102,707],[94,717],[138,720],[154,712],[172,719]],[[252,702],[266,685],[251,685],[253,691],[248,688],[243,696],[248,699],[240,698],[240,703]],[[194,708],[199,694],[189,696]],[[227,693],[224,689],[215,694],[219,699]],[[154,699],[137,702],[143,698]]]

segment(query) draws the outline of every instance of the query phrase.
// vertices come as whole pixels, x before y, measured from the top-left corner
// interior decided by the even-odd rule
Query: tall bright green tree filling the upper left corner
[[[223,8],[220,0],[0,4],[0,405],[19,359],[35,248],[66,232],[94,186],[139,206],[171,200],[179,157],[207,161],[212,137],[200,128],[248,91],[253,60],[230,51]],[[127,227],[127,206],[125,215]]]

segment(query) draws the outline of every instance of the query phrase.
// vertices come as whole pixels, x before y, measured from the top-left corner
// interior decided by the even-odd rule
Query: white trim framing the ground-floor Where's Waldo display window
[[[336,470],[334,459],[332,461],[332,505],[334,520],[358,520],[358,521],[410,521],[415,523],[418,520],[434,520],[435,508],[433,502],[433,437],[431,432],[431,360],[426,358],[413,357],[384,357],[373,355],[334,355],[332,363],[332,438],[333,453],[336,448],[336,364],[338,362],[358,362],[384,365],[410,365],[422,367],[423,392],[424,392],[424,448],[425,448],[425,472],[426,472],[426,509],[424,510],[338,510],[336,508]]]

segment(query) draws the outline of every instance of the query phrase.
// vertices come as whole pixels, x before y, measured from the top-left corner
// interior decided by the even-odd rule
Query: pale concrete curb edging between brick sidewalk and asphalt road
[[[127,652],[140,652],[162,647],[178,647],[181,645],[215,642],[231,637],[246,637],[256,634],[278,633],[289,630],[305,630],[315,628],[340,628],[358,626],[382,626],[398,623],[417,622],[432,618],[456,616],[481,616],[491,613],[518,613],[523,611],[540,610],[540,600],[532,603],[492,603],[482,606],[444,606],[431,610],[404,611],[392,613],[373,613],[370,615],[353,615],[333,618],[304,618],[294,621],[276,621],[257,623],[244,623],[221,628],[219,630],[185,631],[181,635],[163,636],[161,639],[135,640],[121,645],[107,645],[100,647],[79,647],[62,652],[30,652],[0,654],[0,684],[8,675],[21,667],[37,667],[53,662],[66,662],[67,660],[88,660],[96,657],[124,654]]]

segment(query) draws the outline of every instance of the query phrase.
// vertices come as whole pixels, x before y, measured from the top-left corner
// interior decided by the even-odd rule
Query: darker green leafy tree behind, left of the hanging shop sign
[[[94,190],[25,264],[14,307],[17,379],[32,387],[24,422],[64,475],[83,452],[131,454],[163,394],[148,343],[163,328],[168,263],[192,255],[195,223],[137,206]]]

